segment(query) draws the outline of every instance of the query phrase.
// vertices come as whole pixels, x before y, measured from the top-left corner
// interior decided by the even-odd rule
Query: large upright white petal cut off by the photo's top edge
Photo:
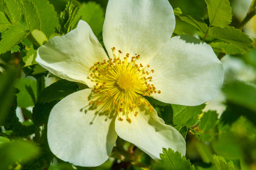
[[[173,8],[167,0],[110,0],[103,25],[104,45],[110,57],[115,46],[123,56],[140,54],[143,63],[166,44],[174,27]]]

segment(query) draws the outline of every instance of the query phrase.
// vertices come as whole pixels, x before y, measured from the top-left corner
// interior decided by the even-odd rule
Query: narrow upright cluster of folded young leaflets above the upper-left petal
[[[61,12],[59,22],[60,25],[55,29],[56,33],[64,35],[72,29],[74,29],[77,23],[73,23],[75,16],[77,15],[77,7],[74,6],[72,1],[68,1],[66,8]]]

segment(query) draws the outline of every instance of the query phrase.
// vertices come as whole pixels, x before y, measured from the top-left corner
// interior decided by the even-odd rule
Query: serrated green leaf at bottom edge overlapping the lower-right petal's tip
[[[185,156],[181,156],[181,153],[174,152],[169,148],[163,148],[163,154],[160,154],[161,160],[154,166],[153,169],[187,169],[194,170],[194,165],[191,165],[190,160],[187,160]]]

